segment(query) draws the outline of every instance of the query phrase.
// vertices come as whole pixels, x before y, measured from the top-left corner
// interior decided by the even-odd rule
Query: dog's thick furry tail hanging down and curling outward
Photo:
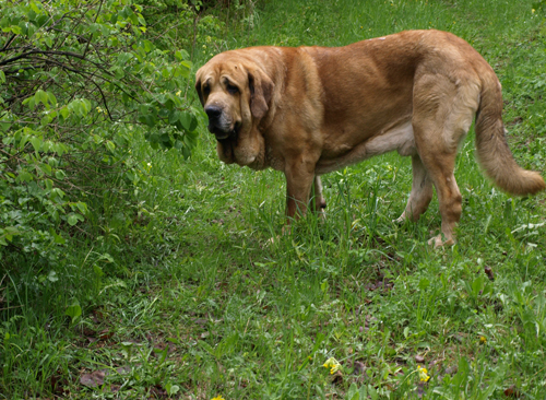
[[[517,196],[534,195],[546,188],[543,177],[520,167],[508,148],[502,123],[500,83],[490,70],[482,75],[480,103],[476,113],[477,160],[485,174],[500,189]]]

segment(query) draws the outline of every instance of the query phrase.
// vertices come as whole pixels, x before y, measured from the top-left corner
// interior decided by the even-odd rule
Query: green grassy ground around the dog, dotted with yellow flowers
[[[450,31],[497,70],[510,145],[544,172],[543,16],[530,1],[274,0],[201,46],[195,63],[254,44]],[[324,176],[327,220],[309,215],[271,244],[284,222],[281,174],[223,165],[204,129],[189,161],[133,146],[150,163],[135,220],[112,223],[112,210],[61,279],[0,284],[24,305],[2,310],[0,398],[546,397],[545,196],[495,189],[472,133],[458,158],[459,244],[440,250],[426,244],[436,201],[417,224],[391,223],[411,189],[397,155]],[[61,296],[82,316],[52,309]]]

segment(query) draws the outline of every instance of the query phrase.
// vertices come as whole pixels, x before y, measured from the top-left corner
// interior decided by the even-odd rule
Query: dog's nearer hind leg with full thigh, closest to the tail
[[[441,234],[429,242],[435,247],[455,243],[453,231],[462,213],[462,197],[453,174],[455,157],[479,98],[479,86],[472,77],[459,73],[456,80],[437,72],[422,74],[414,87],[415,144],[436,188],[442,219]]]

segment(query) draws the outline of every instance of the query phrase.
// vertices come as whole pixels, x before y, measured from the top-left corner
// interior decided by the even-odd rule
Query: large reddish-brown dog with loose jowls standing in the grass
[[[522,169],[505,138],[500,83],[463,39],[407,31],[337,48],[252,47],[213,57],[195,89],[227,164],[286,176],[287,216],[306,212],[320,175],[396,150],[412,156],[413,186],[399,221],[418,220],[436,187],[442,219],[436,246],[454,243],[461,192],[456,151],[476,117],[485,173],[513,195],[545,188]]]

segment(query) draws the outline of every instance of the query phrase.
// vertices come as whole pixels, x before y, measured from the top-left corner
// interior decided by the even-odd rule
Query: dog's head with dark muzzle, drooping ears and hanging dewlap
[[[260,167],[264,141],[258,125],[270,110],[274,84],[238,50],[213,57],[195,74],[195,90],[225,163]]]

